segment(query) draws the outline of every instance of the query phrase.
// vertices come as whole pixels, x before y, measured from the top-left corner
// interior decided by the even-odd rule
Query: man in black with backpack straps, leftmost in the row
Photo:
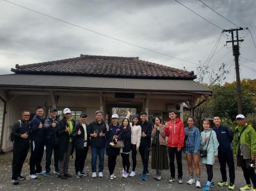
[[[11,139],[13,140],[13,184],[18,184],[18,180],[25,179],[24,176],[21,176],[21,170],[29,151],[29,117],[29,111],[21,112],[21,120],[14,123],[11,131]]]

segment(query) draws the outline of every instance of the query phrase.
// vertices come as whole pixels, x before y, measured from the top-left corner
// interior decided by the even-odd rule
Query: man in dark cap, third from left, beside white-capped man
[[[45,145],[46,145],[46,161],[45,161],[45,174],[43,176],[49,176],[51,171],[51,158],[52,151],[54,151],[54,173],[58,174],[58,139],[56,136],[57,125],[60,120],[60,116],[57,115],[58,110],[53,108],[49,111],[49,116],[43,123],[43,128],[46,129]]]

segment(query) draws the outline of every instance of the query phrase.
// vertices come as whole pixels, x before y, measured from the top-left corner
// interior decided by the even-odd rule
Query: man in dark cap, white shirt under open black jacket
[[[74,148],[76,149],[76,160],[74,161],[74,167],[76,168],[76,177],[88,176],[88,173],[83,170],[85,167],[85,160],[88,153],[88,147],[90,144],[89,126],[86,124],[86,113],[80,114],[80,122],[77,123],[72,133],[74,138]]]

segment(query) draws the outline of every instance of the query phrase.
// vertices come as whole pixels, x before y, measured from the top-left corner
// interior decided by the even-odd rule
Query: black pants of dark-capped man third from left
[[[58,145],[46,143],[46,161],[45,161],[46,173],[49,173],[51,171],[50,165],[51,165],[52,151],[54,151],[54,168],[55,168],[55,171],[58,172]]]

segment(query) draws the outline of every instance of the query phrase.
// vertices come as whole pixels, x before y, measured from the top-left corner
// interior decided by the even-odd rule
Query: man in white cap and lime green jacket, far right
[[[256,158],[256,133],[251,125],[246,123],[245,116],[236,116],[236,126],[233,139],[233,151],[237,157],[238,166],[242,167],[246,185],[240,190],[256,190],[255,158]],[[251,186],[251,180],[253,187]]]

